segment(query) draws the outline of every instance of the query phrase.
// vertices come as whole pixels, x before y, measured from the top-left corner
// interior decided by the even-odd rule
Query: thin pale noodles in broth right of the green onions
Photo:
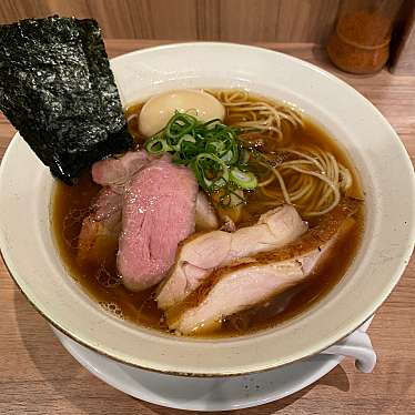
[[[323,215],[338,204],[353,184],[352,174],[332,153],[315,145],[290,146],[290,129],[304,128],[295,108],[253,100],[244,90],[210,92],[225,107],[227,124],[250,129],[241,141],[250,148],[264,146],[257,163],[267,172],[260,178],[257,191],[273,200],[264,204],[291,203],[305,217]]]

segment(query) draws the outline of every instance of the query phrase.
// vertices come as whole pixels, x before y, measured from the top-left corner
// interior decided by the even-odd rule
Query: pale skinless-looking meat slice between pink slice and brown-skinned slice
[[[283,246],[306,230],[295,208],[284,204],[263,214],[255,225],[233,233],[213,231],[191,236],[180,246],[175,265],[159,291],[159,307],[166,310],[183,301],[213,269]]]

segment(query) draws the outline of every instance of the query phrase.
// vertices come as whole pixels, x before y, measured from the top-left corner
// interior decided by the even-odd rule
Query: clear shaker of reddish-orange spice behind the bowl
[[[389,57],[391,34],[402,0],[344,0],[327,53],[352,73],[379,71]]]

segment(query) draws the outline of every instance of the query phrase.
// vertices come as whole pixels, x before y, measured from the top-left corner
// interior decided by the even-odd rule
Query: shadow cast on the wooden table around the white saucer
[[[18,290],[14,293],[14,311],[22,344],[41,374],[43,378],[41,382],[51,386],[48,388],[51,395],[38,401],[39,409],[44,409],[47,413],[50,408],[50,401],[58,401],[61,402],[62,407],[71,408],[72,414],[194,414],[191,411],[171,409],[133,398],[90,374],[64,350],[48,322],[32,308]],[[350,389],[347,374],[338,365],[313,385],[283,399],[262,405],[261,413],[272,414],[282,411],[320,385],[331,386],[342,392]],[[44,408],[41,407],[42,405]],[[74,408],[77,408],[75,412],[73,412]],[[254,415],[257,409],[240,409],[232,411],[232,413]]]

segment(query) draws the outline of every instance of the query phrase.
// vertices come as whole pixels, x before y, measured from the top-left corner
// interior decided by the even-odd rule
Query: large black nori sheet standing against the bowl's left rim
[[[0,109],[69,184],[92,162],[133,143],[94,20],[1,26]]]

